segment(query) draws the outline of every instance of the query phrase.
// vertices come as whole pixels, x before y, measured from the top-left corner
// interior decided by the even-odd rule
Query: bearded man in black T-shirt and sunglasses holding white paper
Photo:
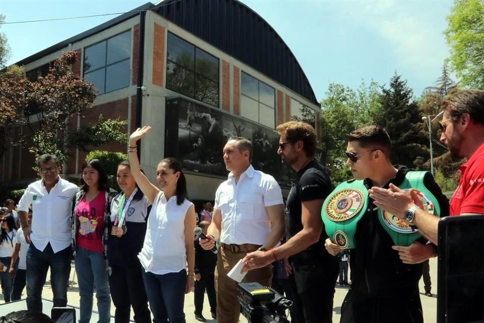
[[[328,237],[321,206],[333,190],[326,170],[315,159],[316,132],[304,122],[287,122],[276,128],[278,154],[297,172],[286,202],[286,243],[269,251],[256,251],[244,259],[248,268],[262,267],[289,257],[297,290],[297,321],[332,323],[338,258],[325,252]]]

